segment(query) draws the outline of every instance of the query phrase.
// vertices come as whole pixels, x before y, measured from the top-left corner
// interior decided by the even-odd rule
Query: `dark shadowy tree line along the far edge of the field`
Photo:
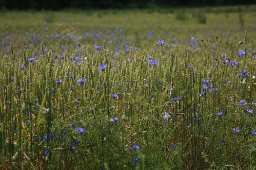
[[[126,9],[253,4],[255,0],[0,0],[0,8],[17,10]]]

